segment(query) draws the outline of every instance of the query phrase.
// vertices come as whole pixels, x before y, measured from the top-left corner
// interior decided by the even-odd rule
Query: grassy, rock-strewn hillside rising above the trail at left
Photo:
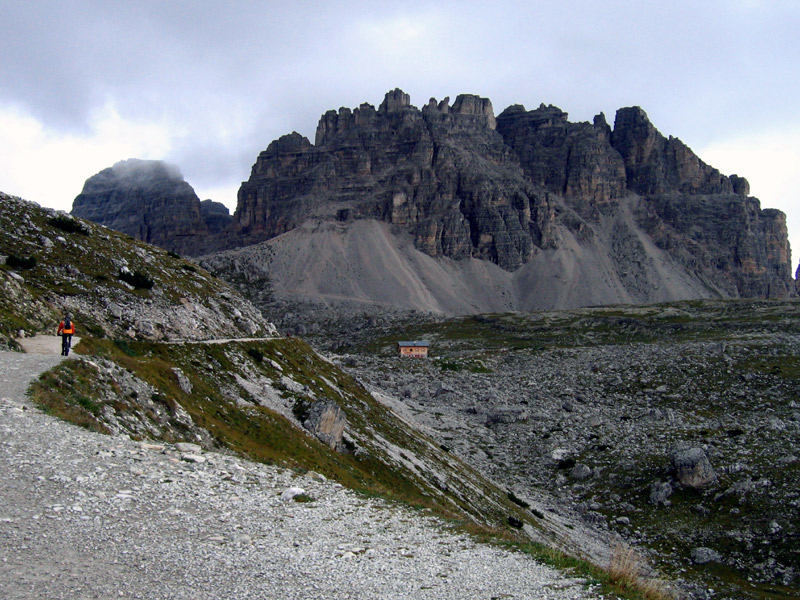
[[[203,339],[264,334],[268,324],[196,265],[88,221],[0,193],[0,340],[55,332]]]

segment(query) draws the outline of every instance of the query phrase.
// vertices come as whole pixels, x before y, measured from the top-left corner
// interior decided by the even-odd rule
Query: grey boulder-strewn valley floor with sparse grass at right
[[[432,359],[356,336],[362,352],[341,360],[532,510],[649,548],[699,597],[788,598],[800,589],[798,308],[417,322],[408,339],[429,337]]]

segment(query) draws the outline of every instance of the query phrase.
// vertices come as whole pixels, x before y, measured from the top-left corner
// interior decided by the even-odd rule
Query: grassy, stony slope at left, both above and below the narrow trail
[[[48,414],[115,439],[190,442],[313,470],[529,552],[531,542],[560,545],[600,565],[579,568],[592,581],[603,579],[607,536],[573,532],[557,515],[527,514],[302,340],[253,338],[254,327],[256,334],[274,330],[196,265],[18,198],[0,200],[13,232],[0,265],[8,292],[0,303],[3,343],[57,347],[52,327],[64,310],[73,312],[82,336],[73,359],[32,388]]]

